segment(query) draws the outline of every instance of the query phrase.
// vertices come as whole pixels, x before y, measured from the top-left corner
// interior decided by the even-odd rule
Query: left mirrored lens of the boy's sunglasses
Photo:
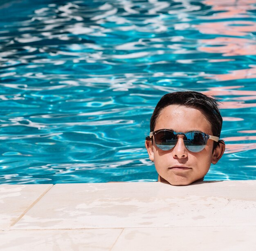
[[[171,150],[177,143],[177,136],[173,131],[161,130],[155,134],[155,144],[162,150]]]

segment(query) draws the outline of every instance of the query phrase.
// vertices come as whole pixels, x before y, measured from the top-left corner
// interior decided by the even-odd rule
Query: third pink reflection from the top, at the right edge
[[[246,38],[225,38],[201,39],[199,51],[207,53],[222,53],[222,56],[256,55],[256,41]],[[209,47],[209,45],[218,45]]]

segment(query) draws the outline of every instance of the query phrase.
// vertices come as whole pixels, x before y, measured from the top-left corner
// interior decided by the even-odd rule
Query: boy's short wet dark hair
[[[161,111],[168,105],[184,105],[189,108],[200,110],[211,124],[213,136],[220,137],[222,128],[222,117],[218,107],[218,101],[200,92],[171,92],[159,100],[150,119],[150,132],[154,131],[157,119]],[[146,140],[151,140],[149,136]],[[220,146],[222,141],[213,143],[213,150]]]

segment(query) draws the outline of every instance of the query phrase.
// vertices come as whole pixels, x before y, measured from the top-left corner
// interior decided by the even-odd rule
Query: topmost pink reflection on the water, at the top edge
[[[212,5],[213,11],[225,11],[215,13],[207,19],[249,17],[247,11],[255,9],[255,0],[205,0],[203,3]]]

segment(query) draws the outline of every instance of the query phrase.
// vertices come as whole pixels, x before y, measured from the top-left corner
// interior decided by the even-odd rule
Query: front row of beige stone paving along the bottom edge
[[[255,251],[255,226],[10,230],[0,233],[4,251]]]

